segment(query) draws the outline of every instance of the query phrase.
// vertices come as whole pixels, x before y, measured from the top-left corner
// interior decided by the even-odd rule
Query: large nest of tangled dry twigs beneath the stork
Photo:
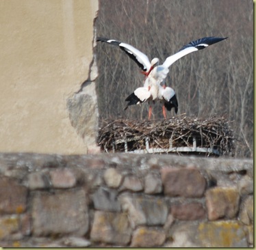
[[[185,115],[169,120],[103,120],[99,127],[98,143],[101,150],[124,152],[122,141],[128,150],[144,150],[145,138],[151,148],[196,147],[218,150],[219,155],[233,155],[233,130],[224,117],[199,119]]]

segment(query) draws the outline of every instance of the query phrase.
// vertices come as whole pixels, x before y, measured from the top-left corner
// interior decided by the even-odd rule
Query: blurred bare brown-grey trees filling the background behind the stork
[[[177,93],[179,113],[226,117],[238,139],[235,156],[253,156],[253,1],[99,0],[95,25],[97,36],[126,42],[162,62],[192,40],[228,36],[170,66],[166,83]],[[143,85],[138,66],[109,44],[98,44],[95,53],[100,120],[146,119],[146,104],[124,111],[125,98]],[[153,119],[162,119],[159,104]]]

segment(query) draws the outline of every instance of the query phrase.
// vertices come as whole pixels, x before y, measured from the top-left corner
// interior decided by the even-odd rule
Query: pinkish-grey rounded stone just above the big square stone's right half
[[[68,189],[75,186],[77,179],[71,169],[54,169],[50,171],[51,184],[57,189]]]

